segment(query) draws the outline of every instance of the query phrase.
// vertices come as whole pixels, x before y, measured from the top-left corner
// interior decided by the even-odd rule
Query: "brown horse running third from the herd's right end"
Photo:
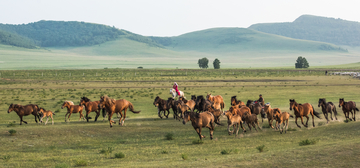
[[[301,118],[301,123],[305,126],[308,127],[308,121],[309,121],[309,117],[308,115],[311,114],[312,119],[313,119],[313,127],[315,127],[315,122],[314,122],[314,115],[317,118],[320,118],[320,115],[318,112],[316,112],[314,110],[314,107],[309,104],[309,103],[304,103],[304,104],[298,104],[296,103],[295,99],[290,99],[290,110],[294,109],[294,114],[295,114],[295,124],[301,128],[301,126],[299,124],[297,124],[297,119],[300,117]],[[306,117],[306,124],[304,124],[304,120],[303,117]],[[321,118],[320,118],[321,119]]]

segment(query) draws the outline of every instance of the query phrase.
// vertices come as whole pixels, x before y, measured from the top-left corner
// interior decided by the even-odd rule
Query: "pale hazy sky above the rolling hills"
[[[360,21],[357,0],[0,0],[0,23],[84,21],[146,36],[292,22],[303,14]]]

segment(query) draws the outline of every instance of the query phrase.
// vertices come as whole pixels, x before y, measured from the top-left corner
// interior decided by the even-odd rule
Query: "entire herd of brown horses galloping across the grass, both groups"
[[[280,133],[282,133],[288,128],[289,118],[295,117],[295,124],[301,128],[301,126],[297,123],[298,118],[301,119],[301,123],[303,126],[308,127],[309,114],[312,117],[312,124],[315,127],[314,116],[320,118],[320,114],[314,110],[314,107],[309,103],[299,104],[294,99],[290,99],[290,110],[294,110],[294,116],[290,115],[288,112],[281,112],[279,108],[271,108],[270,104],[262,105],[261,102],[254,102],[252,100],[248,100],[245,104],[244,102],[237,100],[236,96],[231,97],[230,107],[228,110],[224,111],[225,103],[224,99],[220,95],[213,96],[211,94],[207,94],[205,97],[203,95],[195,96],[192,95],[190,100],[186,100],[185,97],[179,96],[178,100],[175,100],[175,97],[170,97],[167,100],[161,99],[157,96],[154,99],[153,105],[158,109],[158,116],[160,118],[166,117],[168,118],[170,114],[170,110],[173,111],[174,119],[183,120],[183,124],[186,124],[188,121],[191,121],[192,126],[198,133],[200,139],[205,136],[201,135],[202,128],[210,129],[210,138],[213,138],[213,131],[215,128],[215,124],[223,125],[220,123],[220,117],[225,115],[228,119],[228,133],[236,135],[238,134],[239,127],[243,129],[243,132],[246,132],[243,124],[247,124],[249,130],[251,127],[256,131],[256,126],[261,129],[258,122],[258,115],[261,115],[262,122],[264,118],[268,119],[269,126],[271,128],[278,129]],[[333,114],[335,120],[337,120],[337,111],[336,106],[332,102],[326,102],[325,98],[319,99],[318,107],[321,107],[322,112],[324,114],[325,119],[329,122],[329,114],[330,119],[333,120]],[[356,120],[355,114],[359,109],[356,107],[356,103],[353,101],[345,102],[343,98],[339,99],[339,107],[342,108],[346,120]],[[110,123],[110,127],[113,126],[113,123],[116,123],[112,120],[112,116],[116,113],[119,117],[119,125],[123,125],[126,112],[129,109],[133,113],[140,113],[140,111],[135,111],[134,106],[131,102],[125,99],[112,99],[108,96],[101,96],[98,101],[91,101],[87,97],[81,97],[79,105],[75,105],[72,101],[64,101],[61,108],[66,108],[67,113],[65,114],[65,122],[70,121],[70,116],[72,113],[79,113],[79,120],[87,120],[89,122],[89,113],[95,112],[95,122],[97,121],[100,113],[102,111],[102,115],[104,120],[106,116],[108,116],[108,121]],[[86,116],[82,114],[83,110],[86,111]],[[10,104],[8,113],[11,111],[15,111],[17,115],[20,117],[20,125],[22,123],[27,124],[26,121],[23,120],[23,116],[34,115],[35,122],[42,123],[43,118],[47,117],[45,125],[47,124],[49,117],[53,121],[53,113],[51,110],[45,110],[42,107],[39,107],[35,104],[29,105],[19,105],[19,104]],[[350,113],[352,114],[350,118]],[[306,118],[306,123],[304,123],[303,118]],[[273,121],[276,121],[275,127],[273,126]],[[283,128],[280,126],[283,124]],[[231,131],[231,127],[233,130]],[[235,136],[236,136],[235,135]]]

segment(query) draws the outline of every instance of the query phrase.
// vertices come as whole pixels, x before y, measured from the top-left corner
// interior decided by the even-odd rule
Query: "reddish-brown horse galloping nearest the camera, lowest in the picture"
[[[213,132],[214,132],[214,122],[216,123],[215,117],[210,112],[206,111],[203,113],[195,113],[195,112],[185,112],[183,124],[186,124],[191,120],[191,124],[194,127],[195,131],[198,133],[200,140],[205,138],[205,136],[201,135],[201,129],[203,127],[209,128],[210,130],[210,139],[213,139]],[[216,123],[218,124],[218,123]],[[220,125],[220,124],[219,124]]]

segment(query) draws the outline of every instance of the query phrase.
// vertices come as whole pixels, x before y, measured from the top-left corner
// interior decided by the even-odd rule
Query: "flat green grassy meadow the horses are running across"
[[[328,70],[338,71],[337,69]],[[289,99],[311,103],[316,111],[319,98],[337,106],[339,98],[359,102],[358,79],[325,76],[324,69],[222,69],[222,70],[19,70],[0,71],[0,167],[357,167],[360,154],[360,123],[344,122],[337,107],[338,120],[326,123],[315,118],[316,127],[297,128],[290,119],[289,131],[280,134],[262,130],[228,135],[227,126],[217,126],[214,140],[198,141],[191,123],[172,118],[160,119],[153,100],[170,97],[173,82],[190,95],[219,94],[229,108],[231,96],[246,101],[262,94],[265,102],[289,111]],[[135,75],[136,74],[136,75]],[[102,117],[98,122],[78,121],[72,114],[64,122],[63,101],[79,103],[86,96],[92,101],[102,95],[131,101],[140,114],[127,113],[125,126],[114,125]],[[55,124],[19,125],[15,112],[7,113],[11,103],[38,104],[55,112]],[[90,113],[92,118],[95,114]],[[260,118],[260,117],[259,117]],[[114,119],[116,117],[114,116]],[[357,117],[357,120],[359,117]],[[51,119],[50,119],[51,120]],[[118,121],[118,120],[117,120]],[[310,119],[309,122],[312,120]],[[226,123],[226,118],[221,118]],[[15,130],[13,136],[10,130]],[[262,151],[262,152],[260,152]]]

